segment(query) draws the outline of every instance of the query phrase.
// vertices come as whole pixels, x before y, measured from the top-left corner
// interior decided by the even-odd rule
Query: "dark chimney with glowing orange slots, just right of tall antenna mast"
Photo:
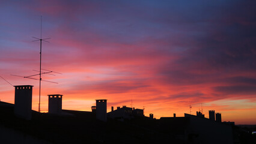
[[[62,112],[62,96],[60,94],[48,95],[48,113],[60,114]]]

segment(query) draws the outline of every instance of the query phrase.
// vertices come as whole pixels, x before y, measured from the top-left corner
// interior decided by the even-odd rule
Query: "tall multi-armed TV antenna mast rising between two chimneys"
[[[42,41],[44,42],[47,42],[47,43],[50,43],[49,41],[46,41],[50,38],[42,38],[42,16],[41,16],[41,34],[40,34],[40,38],[37,38],[37,37],[32,37],[32,38],[35,38],[36,40],[33,40],[33,41],[40,41],[40,70],[37,71],[37,70],[33,70],[33,71],[37,71],[39,72],[39,74],[33,74],[31,76],[17,76],[17,75],[14,75],[14,74],[11,74],[11,76],[17,76],[17,77],[23,77],[23,78],[27,78],[27,79],[34,79],[34,80],[39,80],[39,103],[38,103],[38,112],[40,112],[40,103],[41,103],[41,81],[44,81],[44,82],[50,82],[50,83],[56,83],[56,82],[51,82],[49,80],[42,80],[41,79],[41,75],[42,74],[50,74],[50,75],[53,75],[55,76],[54,74],[51,74],[51,73],[57,73],[57,74],[62,74],[62,73],[58,73],[56,71],[51,71],[51,70],[46,70],[46,69],[43,69],[41,68],[41,56],[42,56]],[[43,71],[42,71],[43,70]],[[32,76],[38,76],[39,75],[39,79],[35,79],[33,78]],[[58,84],[58,83],[56,83]]]

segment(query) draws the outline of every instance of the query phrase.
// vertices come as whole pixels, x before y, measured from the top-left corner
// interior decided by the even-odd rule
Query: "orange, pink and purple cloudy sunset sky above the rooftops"
[[[48,94],[62,109],[90,111],[96,99],[145,108],[145,116],[184,116],[201,109],[222,121],[256,124],[255,1],[1,1],[0,76],[12,85],[43,75],[41,110]],[[38,78],[38,76],[34,77]],[[14,87],[0,78],[0,99],[14,103]],[[133,101],[133,102],[132,102]]]

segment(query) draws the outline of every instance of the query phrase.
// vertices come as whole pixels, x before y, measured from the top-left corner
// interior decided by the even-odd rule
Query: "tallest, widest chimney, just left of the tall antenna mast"
[[[32,87],[32,85],[14,86],[14,114],[19,118],[31,120]]]

